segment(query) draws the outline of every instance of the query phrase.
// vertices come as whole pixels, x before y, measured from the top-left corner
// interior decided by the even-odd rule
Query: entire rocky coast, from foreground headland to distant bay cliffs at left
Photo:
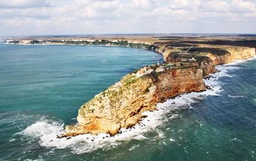
[[[124,76],[119,82],[81,106],[77,125],[68,125],[62,137],[85,133],[116,135],[121,128],[136,125],[145,111],[156,110],[158,102],[183,93],[201,92],[203,79],[215,73],[216,65],[255,56],[250,45],[209,45],[201,39],[179,41],[156,38],[90,38],[90,39],[33,39],[6,40],[11,44],[45,45],[104,45],[148,49],[160,53],[165,63],[146,66]],[[211,39],[215,41],[215,39]],[[239,44],[239,43],[238,43]],[[244,43],[241,43],[244,44]]]

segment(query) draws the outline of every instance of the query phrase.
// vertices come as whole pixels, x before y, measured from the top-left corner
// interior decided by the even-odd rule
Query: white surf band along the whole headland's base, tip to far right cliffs
[[[32,137],[32,139],[38,140],[43,147],[54,147],[57,149],[70,148],[76,154],[89,153],[97,149],[107,150],[109,148],[116,148],[124,140],[147,140],[149,138],[145,134],[152,130],[159,133],[158,137],[162,137],[164,134],[157,130],[157,127],[170,119],[178,118],[179,115],[173,113],[175,110],[193,108],[193,103],[199,102],[207,96],[221,96],[222,82],[219,78],[224,76],[232,77],[232,75],[228,74],[228,71],[239,69],[240,67],[235,65],[241,62],[244,61],[216,66],[218,72],[211,74],[211,78],[204,79],[205,85],[211,87],[211,89],[199,93],[186,93],[176,98],[168,99],[164,103],[158,103],[157,110],[143,113],[143,115],[147,115],[147,118],[143,118],[132,128],[121,129],[120,133],[115,136],[101,133],[97,136],[85,134],[58,139],[57,136],[64,133],[64,123],[49,119],[39,120],[17,133],[17,135]],[[166,114],[170,114],[171,116],[166,116]],[[170,142],[175,142],[175,140],[170,139]],[[133,150],[136,147],[132,146],[129,150]]]

